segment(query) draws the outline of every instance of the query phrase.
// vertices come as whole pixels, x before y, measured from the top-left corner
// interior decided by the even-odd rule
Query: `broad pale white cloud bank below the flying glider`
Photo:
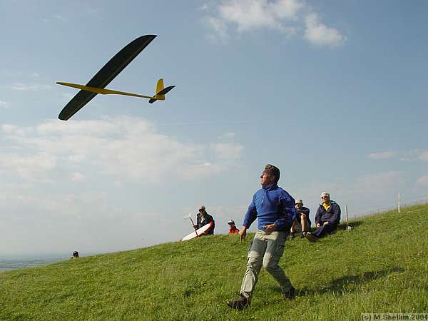
[[[158,133],[143,119],[127,117],[55,120],[27,128],[4,124],[1,132],[9,142],[1,165],[31,180],[52,180],[60,168],[78,181],[82,177],[75,175],[76,166],[95,175],[148,183],[170,177],[200,178],[228,170],[243,151],[243,146],[233,143],[182,143]],[[7,150],[7,146],[15,147]]]

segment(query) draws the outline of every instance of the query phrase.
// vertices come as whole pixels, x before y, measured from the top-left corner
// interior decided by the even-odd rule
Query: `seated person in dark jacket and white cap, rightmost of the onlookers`
[[[340,206],[334,200],[330,200],[329,193],[321,194],[322,203],[315,214],[315,226],[317,229],[305,237],[311,242],[316,242],[318,238],[331,233],[337,229],[340,222]]]

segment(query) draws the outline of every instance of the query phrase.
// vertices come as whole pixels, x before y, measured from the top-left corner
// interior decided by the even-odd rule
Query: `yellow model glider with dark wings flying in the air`
[[[93,78],[86,83],[86,85],[80,85],[78,83],[64,83],[58,81],[58,85],[73,87],[81,89],[76,96],[74,96],[71,101],[69,101],[66,106],[63,108],[61,113],[59,113],[58,118],[61,121],[67,121],[75,113],[77,113],[83,106],[86,105],[93,97],[98,93],[103,95],[106,94],[116,94],[116,95],[125,95],[133,96],[138,98],[148,98],[149,103],[154,103],[155,101],[164,101],[165,94],[168,93],[175,86],[168,86],[164,88],[163,79],[159,79],[156,84],[156,92],[153,96],[139,95],[137,93],[127,93],[125,91],[113,91],[111,89],[105,88],[108,83],[110,83],[116,76],[118,76],[123,68],[128,66],[131,61],[133,61],[138,54],[143,51],[148,44],[151,43],[153,39],[156,38],[156,35],[146,35],[141,36],[131,43],[127,44],[121,51],[119,51],[113,58],[103,66],[103,68],[96,73]]]

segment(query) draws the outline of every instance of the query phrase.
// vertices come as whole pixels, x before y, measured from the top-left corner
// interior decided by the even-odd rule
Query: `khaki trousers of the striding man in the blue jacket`
[[[255,233],[255,237],[251,241],[248,250],[247,270],[245,271],[243,283],[240,288],[241,295],[247,298],[253,295],[262,266],[275,278],[282,292],[290,290],[290,280],[285,275],[284,270],[278,265],[282,253],[284,253],[286,236],[285,232],[267,234],[263,230],[258,230]]]

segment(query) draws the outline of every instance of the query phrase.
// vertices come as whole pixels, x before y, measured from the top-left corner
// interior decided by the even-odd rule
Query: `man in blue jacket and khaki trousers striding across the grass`
[[[240,288],[238,300],[229,300],[229,307],[243,310],[249,307],[258,274],[263,266],[275,278],[287,299],[295,295],[295,288],[278,265],[284,253],[285,238],[295,219],[295,200],[277,185],[280,170],[274,165],[266,165],[260,183],[262,188],[255,192],[253,201],[245,214],[240,240],[245,239],[247,229],[258,219],[258,232],[248,250],[247,270]]]

